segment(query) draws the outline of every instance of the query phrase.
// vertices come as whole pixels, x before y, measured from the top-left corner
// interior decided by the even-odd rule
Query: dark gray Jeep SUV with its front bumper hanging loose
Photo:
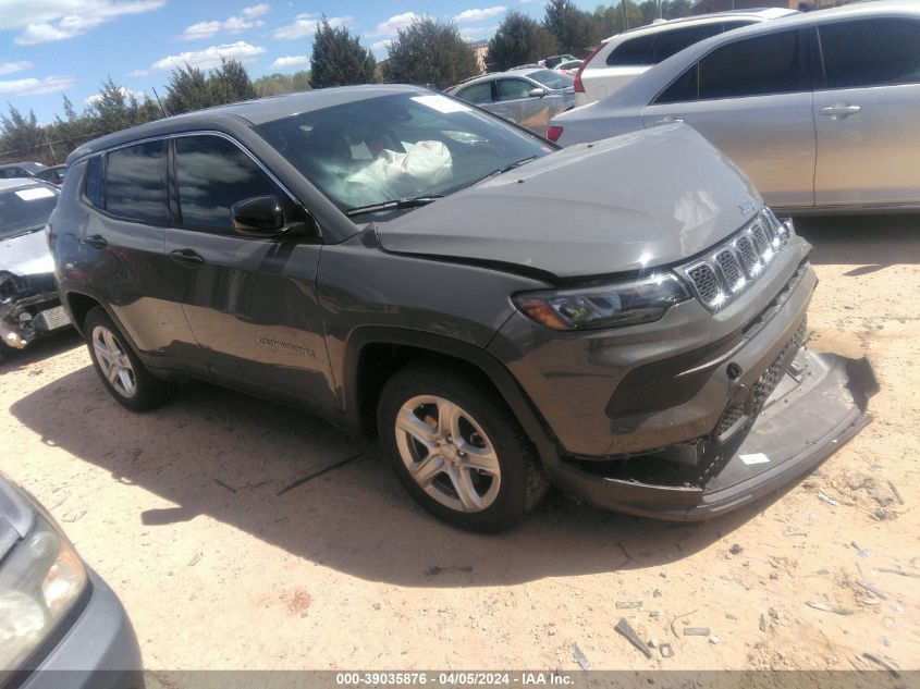
[[[507,527],[550,483],[714,516],[868,420],[868,364],[802,347],[810,246],[682,124],[556,150],[363,86],[169,118],[68,163],[56,276],[115,399],[201,378],[302,405],[377,434],[459,527]]]

